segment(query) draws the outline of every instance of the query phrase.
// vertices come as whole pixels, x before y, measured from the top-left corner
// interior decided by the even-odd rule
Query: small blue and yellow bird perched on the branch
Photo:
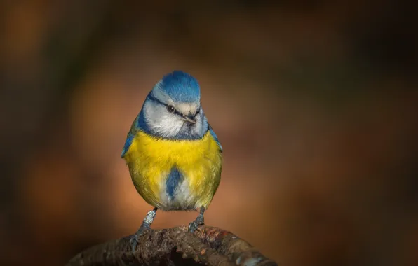
[[[189,232],[204,224],[220,184],[222,151],[203,113],[198,80],[180,70],[167,73],[147,94],[121,153],[137,193],[154,207],[130,239],[133,251],[158,209],[198,210]]]

